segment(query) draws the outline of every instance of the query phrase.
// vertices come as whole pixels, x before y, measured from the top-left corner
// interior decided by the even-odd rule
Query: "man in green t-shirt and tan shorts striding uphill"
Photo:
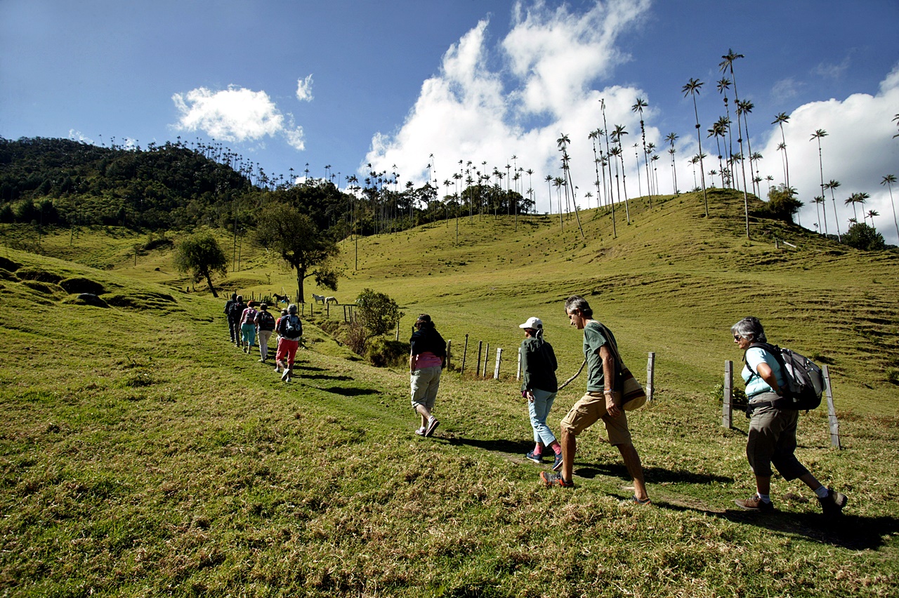
[[[605,424],[609,435],[609,444],[617,446],[624,464],[634,479],[634,496],[625,502],[637,505],[649,505],[649,495],[643,480],[643,466],[640,455],[631,441],[628,429],[628,416],[621,409],[620,394],[613,392],[615,376],[619,365],[615,361],[610,346],[617,347],[615,337],[609,329],[599,321],[593,320],[590,304],[579,296],[572,295],[565,301],[565,313],[568,320],[577,330],[583,330],[583,356],[587,361],[587,392],[574,403],[568,415],[562,420],[562,433],[559,440],[562,444],[562,467],[556,473],[543,471],[540,479],[547,486],[574,486],[574,453],[577,448],[577,435],[597,420]],[[607,385],[608,382],[608,385]]]

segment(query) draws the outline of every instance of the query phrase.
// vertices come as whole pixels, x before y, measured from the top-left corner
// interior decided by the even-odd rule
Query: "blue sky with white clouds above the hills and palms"
[[[579,203],[592,206],[583,195],[596,192],[587,134],[601,127],[599,99],[610,127],[629,132],[629,194],[646,191],[645,180],[636,189],[627,151],[639,140],[637,97],[649,104],[647,141],[667,147],[664,136],[680,137],[675,166],[689,189],[697,147],[681,87],[705,82],[703,149],[717,154],[705,130],[724,115],[717,65],[734,48],[744,55],[736,84],[754,104],[748,138],[764,156],[761,176],[784,179],[771,121],[786,112],[790,183],[812,228],[820,174],[810,136],[823,128],[824,180],[841,181],[836,218],[828,197],[828,231],[845,232],[851,208],[842,200],[864,191],[878,230],[897,242],[879,184],[899,176],[897,22],[895,0],[2,0],[0,136],[142,147],[214,137],[272,174],[308,163],[310,176],[330,164],[362,178],[371,163],[398,172],[401,185],[442,183],[459,160],[472,170],[514,162],[534,171],[546,211],[543,178],[557,174],[565,133]],[[707,172],[715,167],[707,161]],[[671,192],[666,152],[658,179]]]

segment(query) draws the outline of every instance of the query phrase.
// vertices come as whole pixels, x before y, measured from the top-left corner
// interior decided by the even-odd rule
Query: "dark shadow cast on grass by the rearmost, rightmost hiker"
[[[710,517],[725,519],[731,523],[743,523],[763,527],[771,532],[798,535],[806,540],[839,546],[847,550],[877,550],[885,538],[899,533],[899,519],[895,517],[863,517],[843,514],[835,521],[828,521],[820,513],[756,513],[739,509],[712,511],[701,507],[674,505],[664,500],[653,501],[655,506],[674,511],[693,511]]]

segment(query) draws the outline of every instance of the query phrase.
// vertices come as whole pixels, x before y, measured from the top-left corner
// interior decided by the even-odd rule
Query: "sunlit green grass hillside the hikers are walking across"
[[[581,212],[493,215],[342,243],[337,292],[395,298],[401,338],[418,312],[452,339],[434,438],[413,434],[405,367],[355,359],[306,322],[299,376],[280,383],[227,343],[224,299],[185,292],[171,250],[146,235],[0,231],[0,591],[15,596],[895,595],[899,584],[899,254],[859,253],[797,227],[752,223],[742,197],[630,202],[632,224]],[[174,239],[177,234],[172,233]],[[797,247],[776,249],[774,238]],[[222,238],[230,248],[230,240]],[[16,249],[18,248],[18,249]],[[22,251],[29,249],[29,251]],[[37,252],[33,252],[37,251]],[[228,251],[228,250],[227,250]],[[295,286],[242,246],[218,281],[245,295]],[[99,283],[107,307],[69,293]],[[539,316],[559,376],[581,362],[566,296],[587,296],[655,400],[629,416],[654,506],[619,506],[629,479],[600,429],[579,438],[576,488],[542,488],[518,392],[518,324]],[[308,297],[307,297],[308,300]],[[800,418],[801,461],[850,497],[823,523],[801,483],[752,493],[747,421],[721,427],[717,386],[739,367],[729,327],[747,314],[772,342],[829,366],[840,419]],[[332,307],[332,318],[343,310]],[[468,336],[467,365],[458,373]],[[500,380],[474,376],[478,341]],[[483,358],[483,357],[482,357]],[[559,392],[557,429],[583,391]]]

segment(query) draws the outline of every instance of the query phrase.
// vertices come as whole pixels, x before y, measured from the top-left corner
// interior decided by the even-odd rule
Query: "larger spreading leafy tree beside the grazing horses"
[[[303,282],[307,277],[315,276],[319,286],[337,290],[340,272],[333,264],[337,245],[309,216],[284,204],[269,204],[259,214],[254,242],[274,251],[291,269],[297,270],[300,301],[305,301]]]

